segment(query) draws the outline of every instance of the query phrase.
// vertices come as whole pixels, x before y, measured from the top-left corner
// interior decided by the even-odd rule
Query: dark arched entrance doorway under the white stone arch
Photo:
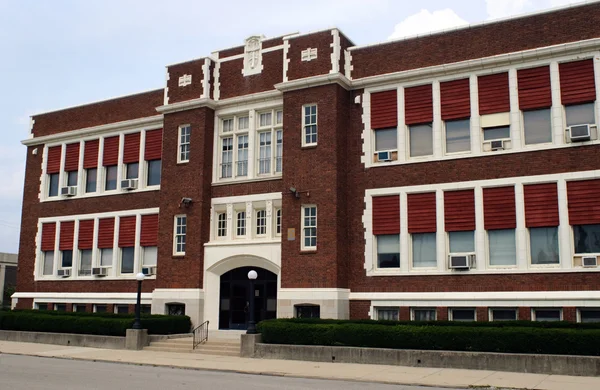
[[[248,272],[255,270],[254,292],[250,291]],[[221,275],[219,329],[247,329],[250,299],[254,299],[254,319],[277,317],[277,275],[259,267],[240,267]]]

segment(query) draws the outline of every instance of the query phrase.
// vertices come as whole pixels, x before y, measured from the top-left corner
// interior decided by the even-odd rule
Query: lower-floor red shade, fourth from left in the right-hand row
[[[517,227],[515,188],[484,188],[483,219],[486,230],[515,229]]]

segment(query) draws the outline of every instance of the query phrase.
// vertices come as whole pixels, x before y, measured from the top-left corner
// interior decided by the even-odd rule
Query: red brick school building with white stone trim
[[[337,29],[33,116],[18,308],[600,318],[600,4],[376,45]],[[259,277],[250,292],[247,272]]]

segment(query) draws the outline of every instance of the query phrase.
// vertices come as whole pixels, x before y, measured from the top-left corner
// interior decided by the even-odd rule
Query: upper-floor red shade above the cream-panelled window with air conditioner
[[[508,72],[477,78],[479,115],[510,112]]]

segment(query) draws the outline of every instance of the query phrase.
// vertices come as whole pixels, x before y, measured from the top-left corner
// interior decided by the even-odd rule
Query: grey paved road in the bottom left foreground
[[[0,354],[0,389],[436,390],[432,387],[246,375],[6,354]]]

